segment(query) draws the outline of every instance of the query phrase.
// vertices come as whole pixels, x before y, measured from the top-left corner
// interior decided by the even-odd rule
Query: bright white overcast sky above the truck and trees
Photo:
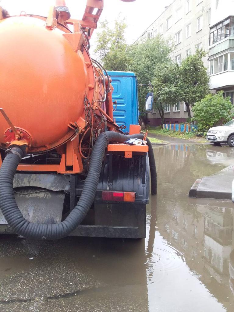
[[[20,14],[24,10],[28,14],[46,16],[50,5],[54,2],[54,0],[2,0],[0,5],[6,8],[11,15]],[[106,18],[113,23],[119,12],[122,12],[128,25],[126,39],[128,43],[133,43],[163,12],[164,7],[172,2],[173,0],[136,0],[127,3],[121,0],[104,0],[104,10],[100,21]],[[86,0],[67,0],[66,4],[70,9],[71,17],[82,18]],[[95,32],[90,41],[92,46],[95,45]]]

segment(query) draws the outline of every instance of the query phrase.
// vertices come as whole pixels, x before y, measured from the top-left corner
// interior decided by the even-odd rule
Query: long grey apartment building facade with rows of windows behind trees
[[[220,0],[220,2],[223,1],[228,0]],[[214,7],[212,0],[174,0],[168,7],[165,7],[165,11],[136,42],[143,42],[158,34],[165,40],[173,40],[175,49],[172,58],[180,65],[182,59],[193,54],[196,48],[203,48],[208,51],[209,27]],[[203,61],[204,65],[209,67],[208,57],[204,58]],[[188,113],[183,102],[175,103],[174,106],[165,105],[164,112],[167,123],[186,122],[188,119]],[[161,124],[161,118],[157,111],[148,114],[148,122],[155,126]]]

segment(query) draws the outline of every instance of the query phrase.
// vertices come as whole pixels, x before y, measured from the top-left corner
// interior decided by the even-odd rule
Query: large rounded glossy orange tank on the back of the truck
[[[27,136],[32,152],[70,139],[74,131],[69,124],[84,113],[85,95],[89,92],[90,101],[95,100],[96,78],[94,70],[88,69],[89,54],[85,60],[84,47],[74,51],[64,34],[35,17],[0,21],[0,107],[17,131]],[[0,144],[11,138],[9,131],[0,114]]]

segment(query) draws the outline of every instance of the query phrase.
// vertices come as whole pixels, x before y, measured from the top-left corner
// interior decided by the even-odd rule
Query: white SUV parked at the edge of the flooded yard
[[[234,119],[223,126],[210,128],[206,139],[214,145],[227,143],[229,146],[234,146]]]

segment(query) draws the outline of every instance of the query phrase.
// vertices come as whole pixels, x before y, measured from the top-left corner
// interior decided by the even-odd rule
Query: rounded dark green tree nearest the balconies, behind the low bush
[[[178,92],[180,100],[186,105],[188,118],[191,118],[190,107],[209,93],[210,78],[202,61],[205,56],[205,51],[197,50],[195,54],[183,59],[179,67]]]

